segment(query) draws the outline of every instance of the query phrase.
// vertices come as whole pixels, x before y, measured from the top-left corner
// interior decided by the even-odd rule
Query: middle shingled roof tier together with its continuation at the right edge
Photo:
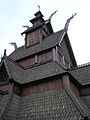
[[[41,80],[55,75],[60,75],[66,72],[70,73],[81,85],[90,84],[90,65],[69,70],[65,69],[65,67],[60,63],[51,61],[24,69],[9,57],[5,63],[7,65],[11,78],[21,84]]]

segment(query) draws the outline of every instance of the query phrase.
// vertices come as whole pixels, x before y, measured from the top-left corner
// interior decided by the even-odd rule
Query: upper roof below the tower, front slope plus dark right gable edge
[[[69,60],[68,62],[71,61],[71,64],[73,66],[76,66],[77,64],[73,54],[73,50],[71,48],[67,33],[64,34],[64,30],[60,30],[56,33],[49,35],[48,37],[43,39],[40,44],[30,46],[26,49],[24,48],[24,46],[22,46],[16,49],[13,53],[11,53],[9,57],[14,61],[23,59],[25,57],[30,57],[31,55],[43,52],[45,50],[55,47],[56,45],[59,45],[59,42],[62,41],[62,39],[64,41],[64,44],[62,44],[62,52],[63,55],[65,55],[64,57],[66,57],[66,60]]]

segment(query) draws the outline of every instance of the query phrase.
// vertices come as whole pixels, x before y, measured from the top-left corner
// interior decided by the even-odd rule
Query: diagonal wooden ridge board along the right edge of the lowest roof
[[[88,117],[88,113],[86,113],[86,111],[84,110],[84,108],[81,106],[80,102],[78,101],[77,97],[72,93],[72,91],[69,88],[65,89],[67,94],[70,96],[70,98],[72,99],[72,101],[74,102],[75,106],[78,108],[78,110],[80,111],[81,115],[86,118]]]

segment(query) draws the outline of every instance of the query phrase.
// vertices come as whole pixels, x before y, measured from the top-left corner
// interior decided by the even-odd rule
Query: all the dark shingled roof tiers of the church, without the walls
[[[42,23],[36,26],[34,24],[22,34],[28,34],[45,24],[40,11],[35,16],[36,18],[32,19],[31,22],[34,24],[37,19],[40,19]],[[13,86],[16,83],[21,86],[26,85],[26,83],[29,85],[31,82],[40,82],[47,78],[57,76],[61,78],[66,74],[73,77],[75,84],[77,83],[80,87],[90,85],[90,65],[77,66],[67,32],[64,33],[65,31],[61,30],[53,33],[51,28],[50,30],[52,34],[46,36],[41,43],[26,48],[22,46],[2,60],[0,70],[2,71],[4,66],[7,83],[0,83],[1,86],[6,84]],[[59,46],[62,39],[64,39],[64,43],[62,42]],[[56,47],[60,48],[60,52],[67,60],[70,58],[72,66],[75,68],[66,68],[62,63],[54,60],[37,63],[27,68],[18,64],[19,60],[38,55],[52,48],[55,50]],[[67,55],[67,53],[69,54]],[[13,89],[9,89],[5,93],[0,91],[0,120],[84,120],[90,116],[90,96],[76,97],[68,88],[63,89],[62,87],[26,96],[20,95],[16,95]]]

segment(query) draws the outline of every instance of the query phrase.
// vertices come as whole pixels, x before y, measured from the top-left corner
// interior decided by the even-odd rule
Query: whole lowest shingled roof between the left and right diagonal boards
[[[23,97],[13,93],[8,111],[3,118],[7,120],[84,120],[88,117],[88,114],[85,116],[87,111],[83,111],[83,106],[75,103],[77,98],[73,100],[72,94],[69,93],[68,89]]]

